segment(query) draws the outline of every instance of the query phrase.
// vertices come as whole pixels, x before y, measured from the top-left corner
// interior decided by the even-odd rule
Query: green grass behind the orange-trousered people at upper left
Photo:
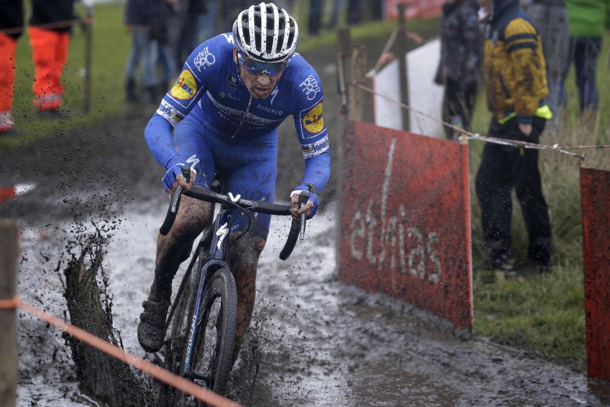
[[[24,132],[15,137],[1,137],[0,149],[34,143],[66,129],[112,117],[126,107],[123,102],[124,65],[129,49],[129,35],[123,27],[123,3],[95,7],[93,24],[93,65],[91,67],[91,108],[84,112],[85,35],[74,27],[68,62],[62,74],[64,98],[62,109],[70,118],[39,120],[32,104],[34,65],[27,32],[21,35],[16,51],[16,83],[13,117],[16,128]],[[78,9],[81,15],[84,10]]]

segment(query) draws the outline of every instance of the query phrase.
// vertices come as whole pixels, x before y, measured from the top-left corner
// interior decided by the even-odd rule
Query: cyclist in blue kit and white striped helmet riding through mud
[[[209,188],[217,172],[227,191],[273,201],[278,126],[292,115],[305,160],[302,182],[290,193],[292,214],[315,214],[331,159],[320,78],[295,53],[297,43],[295,20],[272,3],[260,3],[239,13],[231,33],[192,52],[145,129],[153,156],[167,171],[162,184],[168,193],[193,182]],[[181,174],[183,164],[193,168],[190,184]],[[299,209],[301,190],[310,190],[310,198]],[[182,196],[171,232],[157,238],[154,280],[138,326],[146,351],[162,347],[171,281],[207,226],[210,207]],[[234,361],[254,308],[256,267],[269,224],[270,215],[257,214],[231,247],[238,298]],[[240,236],[247,226],[247,218],[237,218],[231,236]]]

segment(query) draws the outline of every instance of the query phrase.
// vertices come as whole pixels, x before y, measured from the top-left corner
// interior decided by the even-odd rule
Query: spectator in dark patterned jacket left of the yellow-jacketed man
[[[476,0],[445,0],[441,20],[441,55],[436,83],[445,85],[443,120],[470,131],[480,60]],[[447,128],[447,136],[458,133]]]

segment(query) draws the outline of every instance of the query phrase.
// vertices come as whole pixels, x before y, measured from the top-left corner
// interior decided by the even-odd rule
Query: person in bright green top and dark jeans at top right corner
[[[595,68],[601,37],[608,24],[608,0],[565,0],[570,28],[570,57],[576,68],[576,86],[584,120],[595,115],[598,105]],[[564,70],[564,80],[567,76]]]

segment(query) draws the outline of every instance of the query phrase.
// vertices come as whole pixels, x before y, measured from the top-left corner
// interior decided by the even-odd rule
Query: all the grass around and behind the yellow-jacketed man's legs
[[[543,133],[540,142],[564,146],[610,144],[610,74],[606,36],[598,60],[600,109],[597,121],[581,123],[578,93],[573,70],[567,79],[567,125],[559,132]],[[489,113],[483,93],[475,112],[475,132],[486,134]],[[473,256],[483,253],[480,209],[476,201],[474,177],[483,143],[471,142],[471,196]],[[575,150],[585,154],[587,167],[610,170],[608,150]],[[549,207],[553,234],[553,273],[519,281],[498,281],[489,284],[475,273],[475,333],[502,344],[525,348],[550,361],[586,372],[582,225],[580,196],[580,159],[553,151],[540,152],[540,173],[545,199]],[[512,256],[519,263],[527,258],[528,237],[520,214],[519,203],[513,199]]]

